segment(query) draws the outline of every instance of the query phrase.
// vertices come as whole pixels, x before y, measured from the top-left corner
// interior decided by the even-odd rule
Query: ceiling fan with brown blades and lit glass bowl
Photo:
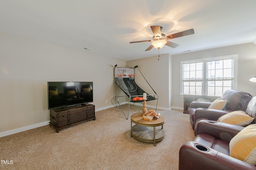
[[[167,40],[194,34],[194,29],[188,29],[186,31],[181,31],[181,32],[170,34],[170,35],[166,36],[165,34],[161,33],[163,27],[160,27],[160,26],[150,26],[150,27],[152,29],[152,32],[154,33],[152,40],[133,41],[130,43],[152,42],[151,45],[145,51],[149,51],[153,47],[160,49],[164,45],[167,45],[172,48],[176,48],[179,46],[178,44],[173,43],[171,41],[167,41]]]

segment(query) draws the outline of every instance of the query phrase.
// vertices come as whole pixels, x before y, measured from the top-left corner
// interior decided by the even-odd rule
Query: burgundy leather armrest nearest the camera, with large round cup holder
[[[256,166],[188,141],[180,148],[179,170],[256,170]]]

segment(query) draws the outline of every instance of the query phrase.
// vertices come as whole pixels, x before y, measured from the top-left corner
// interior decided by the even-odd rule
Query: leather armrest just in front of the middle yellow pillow
[[[244,127],[218,121],[200,120],[196,123],[195,129],[195,135],[208,134],[229,143]]]

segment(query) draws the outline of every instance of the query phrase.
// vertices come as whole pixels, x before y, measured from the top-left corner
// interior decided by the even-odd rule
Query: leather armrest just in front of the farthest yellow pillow
[[[209,120],[217,121],[221,116],[230,113],[227,110],[218,110],[218,109],[206,109],[206,108],[198,108],[194,113],[194,122],[200,117],[206,117]]]

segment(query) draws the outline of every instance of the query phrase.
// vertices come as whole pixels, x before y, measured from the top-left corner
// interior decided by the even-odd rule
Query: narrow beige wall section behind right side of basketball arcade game
[[[152,49],[153,50],[153,49]],[[171,107],[171,70],[170,70],[171,57],[169,54],[148,57],[144,59],[126,61],[126,67],[138,68],[146,78],[150,86],[159,95],[158,108],[169,110]],[[136,76],[136,72],[135,75]],[[156,100],[147,102],[147,106],[156,106]]]

